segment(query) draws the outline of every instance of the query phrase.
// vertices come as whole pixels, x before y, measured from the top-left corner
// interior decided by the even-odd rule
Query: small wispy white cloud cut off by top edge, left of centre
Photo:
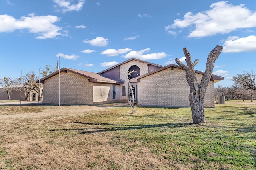
[[[76,0],[76,1],[69,1],[69,0],[53,0],[60,8],[62,8],[62,12],[67,11],[79,11],[82,9],[85,0]],[[70,2],[78,2],[77,4],[70,4]]]

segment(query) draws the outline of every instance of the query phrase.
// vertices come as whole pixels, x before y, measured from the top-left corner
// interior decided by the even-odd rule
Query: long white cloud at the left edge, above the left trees
[[[60,21],[57,16],[35,16],[29,14],[16,20],[13,16],[0,15],[0,32],[12,32],[14,30],[28,29],[30,33],[36,33],[37,39],[54,38],[58,35],[67,36],[68,32],[60,33],[62,27],[53,23]]]

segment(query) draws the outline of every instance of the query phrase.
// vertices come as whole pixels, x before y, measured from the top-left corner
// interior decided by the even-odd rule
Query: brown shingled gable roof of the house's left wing
[[[61,68],[60,70],[57,70],[56,72],[53,72],[52,74],[49,74],[48,76],[45,76],[40,79],[40,83],[44,83],[44,80],[47,80],[48,78],[51,78],[53,76],[56,76],[59,74],[59,72],[73,72],[75,74],[78,74],[80,76],[84,76],[89,79],[90,82],[101,82],[101,83],[110,83],[110,84],[123,84],[124,82],[112,80],[110,78],[106,78],[100,74],[94,73],[94,72],[88,72],[88,71],[82,71],[82,70],[76,70],[72,68]]]

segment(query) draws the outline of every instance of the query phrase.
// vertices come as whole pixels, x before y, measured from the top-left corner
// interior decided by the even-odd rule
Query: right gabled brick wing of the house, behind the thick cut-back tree
[[[204,72],[196,71],[198,81]],[[205,94],[205,107],[214,107],[214,83],[224,77],[212,75]],[[190,87],[186,72],[180,66],[170,64],[130,80],[138,86],[138,104],[143,106],[187,106]]]

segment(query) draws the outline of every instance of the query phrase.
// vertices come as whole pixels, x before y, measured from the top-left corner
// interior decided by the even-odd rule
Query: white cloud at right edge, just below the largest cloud
[[[223,44],[224,53],[238,53],[243,51],[256,51],[256,36],[248,37],[228,37]]]

